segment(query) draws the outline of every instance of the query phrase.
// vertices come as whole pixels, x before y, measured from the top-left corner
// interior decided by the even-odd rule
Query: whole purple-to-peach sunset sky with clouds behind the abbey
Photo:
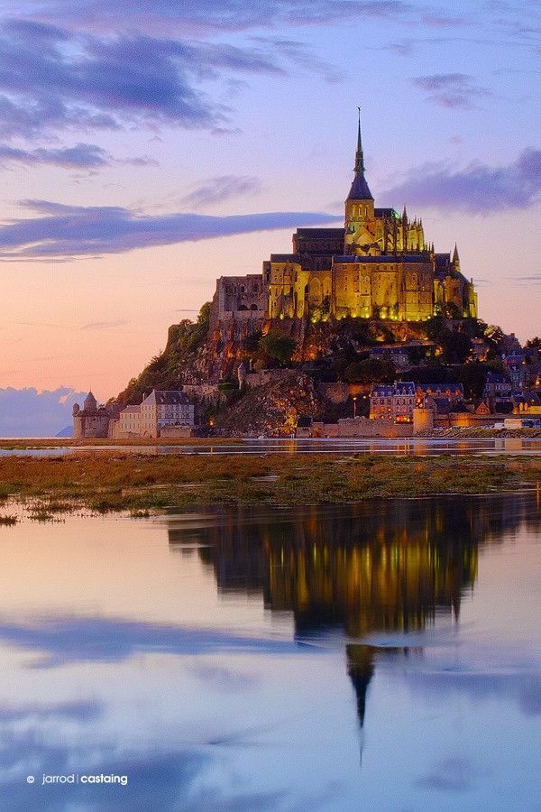
[[[106,401],[217,277],[340,225],[358,105],[376,205],[540,334],[540,32],[539,0],[0,0],[0,389]]]

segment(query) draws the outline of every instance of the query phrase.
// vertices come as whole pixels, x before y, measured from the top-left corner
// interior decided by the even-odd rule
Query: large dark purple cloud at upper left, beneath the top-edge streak
[[[104,39],[8,21],[0,32],[0,132],[127,123],[224,125],[198,87],[229,73],[285,73],[268,49],[143,34]]]

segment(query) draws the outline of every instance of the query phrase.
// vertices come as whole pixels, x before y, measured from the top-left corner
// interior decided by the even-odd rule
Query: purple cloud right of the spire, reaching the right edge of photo
[[[524,150],[517,161],[500,167],[481,162],[462,171],[434,164],[416,167],[384,197],[475,214],[530,208],[541,199],[541,150]]]

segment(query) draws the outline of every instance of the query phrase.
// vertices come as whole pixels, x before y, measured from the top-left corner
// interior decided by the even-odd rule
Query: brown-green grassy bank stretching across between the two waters
[[[41,518],[80,508],[144,512],[197,503],[296,505],[488,494],[540,481],[541,457],[151,457],[119,449],[0,457],[0,501],[32,504]]]

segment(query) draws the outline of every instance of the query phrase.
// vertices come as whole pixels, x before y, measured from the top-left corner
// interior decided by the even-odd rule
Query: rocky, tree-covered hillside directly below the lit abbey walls
[[[222,332],[227,334],[227,341]],[[500,331],[498,340],[501,336]],[[422,323],[283,319],[265,322],[261,330],[241,337],[235,335],[231,324],[222,326],[213,321],[207,302],[195,322],[185,319],[170,327],[165,350],[151,359],[114,402],[140,403],[152,389],[179,389],[183,384],[230,381],[236,385],[241,362],[253,371],[295,367],[288,385],[266,383],[257,393],[224,393],[221,400],[223,405],[227,402],[227,416],[209,411],[208,402],[199,403],[197,419],[212,417],[225,431],[233,431],[236,421],[237,427],[243,425],[257,433],[273,430],[274,424],[287,426],[298,414],[321,416],[326,406],[316,393],[315,381],[392,381],[397,374],[394,365],[389,360],[369,359],[372,346],[410,341],[408,355],[416,380],[445,381],[446,372],[452,371],[449,374],[454,382],[463,383],[467,392],[480,393],[489,366],[465,363],[471,360],[472,338],[482,338],[489,357],[496,359],[491,364],[500,363],[498,340],[487,337],[487,326],[476,319],[433,318]],[[264,426],[261,413],[266,416]]]

